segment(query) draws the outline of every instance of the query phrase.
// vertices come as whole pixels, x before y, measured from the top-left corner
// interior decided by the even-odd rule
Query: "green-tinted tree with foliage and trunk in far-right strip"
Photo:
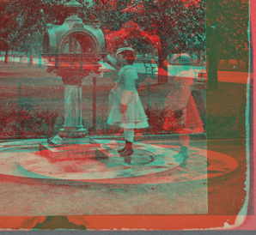
[[[208,87],[218,87],[217,61],[221,57],[248,58],[248,1],[207,2]]]

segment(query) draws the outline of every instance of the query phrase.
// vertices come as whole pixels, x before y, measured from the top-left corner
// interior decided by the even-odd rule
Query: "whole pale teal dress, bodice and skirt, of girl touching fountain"
[[[138,96],[135,81],[137,71],[132,65],[125,65],[119,70],[119,84],[109,94],[109,115],[107,124],[119,125],[124,129],[140,129],[149,126],[141,99]],[[126,105],[124,113],[120,113],[120,105]]]

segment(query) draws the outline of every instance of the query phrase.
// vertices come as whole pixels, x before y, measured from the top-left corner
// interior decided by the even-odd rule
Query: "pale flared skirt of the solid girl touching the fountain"
[[[124,113],[120,112],[121,99],[125,100],[125,104],[127,104]],[[149,126],[148,117],[137,91],[121,92],[119,86],[112,89],[109,93],[107,124],[118,125],[124,129],[141,129]]]

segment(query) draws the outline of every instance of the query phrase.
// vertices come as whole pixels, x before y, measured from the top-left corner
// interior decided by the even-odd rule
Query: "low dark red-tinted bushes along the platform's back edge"
[[[145,112],[147,113],[146,110]],[[170,131],[162,129],[166,112],[167,111],[161,104],[155,103],[154,105],[151,105],[149,129],[135,130],[135,132],[150,135],[171,134]],[[52,137],[58,134],[58,130],[61,129],[64,124],[64,114],[56,110],[41,111],[34,108],[30,108],[29,110],[21,108],[20,118],[18,116],[19,114],[16,110],[6,109],[0,111],[0,138]],[[216,118],[219,117],[217,116]],[[224,118],[222,121],[227,122],[226,119]],[[18,122],[18,120],[20,120],[20,122]],[[235,117],[231,121],[230,120],[228,120],[228,123],[231,124],[231,121],[235,121]],[[212,121],[215,122],[215,120]],[[108,125],[107,114],[104,113],[97,114],[95,130],[93,128],[92,116],[88,115],[83,118],[82,124],[88,129],[88,135],[91,136],[116,135],[122,131],[118,126]],[[229,127],[227,128],[229,129]]]

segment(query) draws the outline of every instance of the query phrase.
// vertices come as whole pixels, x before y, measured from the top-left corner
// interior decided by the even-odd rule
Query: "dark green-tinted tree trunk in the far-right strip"
[[[217,75],[217,43],[216,43],[216,30],[213,28],[207,28],[207,53],[208,53],[208,80],[207,88],[218,88],[218,75]]]

